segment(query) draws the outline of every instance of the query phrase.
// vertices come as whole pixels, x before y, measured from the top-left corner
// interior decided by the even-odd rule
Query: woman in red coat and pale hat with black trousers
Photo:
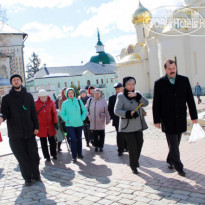
[[[53,159],[57,159],[54,136],[56,135],[56,129],[58,129],[58,119],[55,104],[48,96],[46,90],[42,89],[38,93],[38,100],[35,101],[35,105],[39,121],[38,137],[40,137],[43,156],[47,161],[50,161],[50,154]],[[47,139],[50,144],[50,154],[48,152]]]

